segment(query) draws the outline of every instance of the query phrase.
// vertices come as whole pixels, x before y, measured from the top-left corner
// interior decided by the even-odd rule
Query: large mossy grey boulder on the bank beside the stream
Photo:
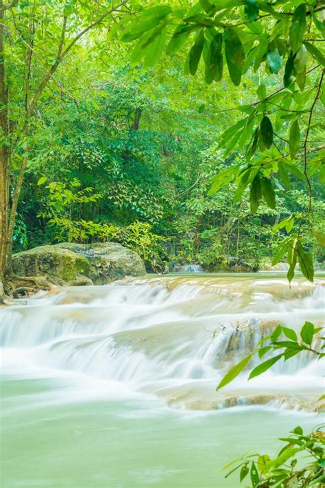
[[[125,276],[145,275],[141,257],[115,242],[39,246],[15,254],[12,269],[21,277],[47,276],[58,285],[80,279],[104,285]]]

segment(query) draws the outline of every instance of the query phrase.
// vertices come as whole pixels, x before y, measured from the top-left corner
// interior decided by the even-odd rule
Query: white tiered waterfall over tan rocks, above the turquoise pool
[[[310,408],[323,371],[308,353],[250,382],[245,371],[224,391],[215,386],[279,323],[323,325],[323,307],[321,281],[289,288],[279,277],[173,275],[58,288],[1,308],[2,369],[87,375],[180,408]]]

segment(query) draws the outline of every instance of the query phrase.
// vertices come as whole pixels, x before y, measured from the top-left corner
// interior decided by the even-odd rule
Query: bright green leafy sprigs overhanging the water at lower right
[[[302,352],[313,353],[318,360],[321,360],[325,356],[325,353],[322,352],[325,345],[318,345],[318,340],[324,340],[324,337],[319,337],[323,329],[324,327],[315,327],[313,323],[305,322],[300,330],[300,337],[298,337],[294,329],[278,325],[272,334],[258,342],[256,349],[250,355],[226,373],[217,389],[234,380],[255,354],[258,354],[260,360],[270,353],[275,352],[276,356],[260,362],[251,371],[249,380],[265,373],[279,360],[287,361]],[[232,467],[226,477],[240,469],[240,483],[250,474],[250,486],[252,487],[322,487],[322,483],[325,481],[324,432],[321,428],[315,428],[310,434],[304,434],[302,428],[298,426],[291,430],[290,434],[289,437],[280,439],[286,444],[275,458],[271,458],[267,454],[245,455],[224,468]],[[306,458],[303,464],[302,454]],[[233,467],[234,465],[235,467]]]

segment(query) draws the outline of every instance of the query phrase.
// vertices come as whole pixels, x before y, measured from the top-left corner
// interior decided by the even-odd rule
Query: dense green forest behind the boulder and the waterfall
[[[240,12],[243,27],[245,18],[255,21],[258,15],[257,3],[246,3],[252,12],[248,7]],[[286,2],[286,8],[296,3]],[[217,2],[212,10],[205,4],[170,3],[175,13],[171,7],[153,7],[148,21],[140,19],[144,27],[135,34],[132,25],[146,15],[146,10],[141,12],[149,3],[117,3],[107,16],[106,8],[97,2],[58,1],[49,8],[47,1],[14,1],[2,7],[3,157],[7,160],[2,181],[6,181],[3,188],[8,187],[3,211],[10,215],[7,256],[11,245],[18,252],[62,241],[112,240],[138,251],[148,271],[165,272],[177,264],[200,264],[210,271],[229,266],[258,270],[270,264],[287,233],[299,227],[305,249],[313,249],[315,259],[322,262],[324,253],[315,239],[315,232],[322,235],[324,217],[322,89],[313,104],[320,75],[313,60],[319,65],[322,56],[317,42],[321,22],[315,14],[305,34],[313,40],[315,31],[316,42],[300,48],[300,72],[307,69],[309,74],[304,81],[297,79],[298,86],[287,84],[285,96],[278,98],[281,65],[289,53],[281,38],[281,29],[284,35],[289,29],[285,14],[276,16],[266,44],[261,21],[256,32],[237,27],[241,49],[247,54],[243,80],[239,84],[224,67],[222,80],[212,82],[205,67],[208,42],[219,29],[218,23],[213,26],[213,15],[224,10]],[[267,16],[265,6],[261,12],[261,18]],[[229,19],[236,21],[236,16]],[[180,19],[185,19],[187,30],[176,36],[177,43],[169,40],[169,56],[161,56],[165,47],[160,49],[156,38],[141,45],[157,26],[171,36]],[[198,67],[191,67],[195,73],[191,76],[189,66],[184,70],[184,60],[188,65],[205,25],[203,59]],[[130,56],[134,39],[138,45]],[[256,49],[261,53],[254,61]],[[311,105],[306,138],[312,169],[306,179],[303,131]],[[249,116],[254,107],[256,120],[269,114],[274,124],[272,145],[263,148],[260,143],[253,164],[262,155],[273,161],[267,179],[276,204],[261,200],[252,214],[252,192],[248,185],[237,191],[238,178],[228,179],[224,186],[220,183],[218,191],[209,189],[215,175],[228,168],[245,168],[250,161],[252,150],[245,146],[256,136]],[[245,114],[241,132],[232,130],[236,124],[241,128]],[[292,139],[295,130],[297,135],[295,124],[298,141]],[[295,219],[298,224],[292,231]]]

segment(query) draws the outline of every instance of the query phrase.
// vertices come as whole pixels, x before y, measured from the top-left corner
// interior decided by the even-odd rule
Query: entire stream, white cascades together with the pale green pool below
[[[323,285],[149,276],[2,307],[1,487],[239,487],[226,463],[320,423],[324,371],[306,353],[215,386],[278,323],[323,325]]]

